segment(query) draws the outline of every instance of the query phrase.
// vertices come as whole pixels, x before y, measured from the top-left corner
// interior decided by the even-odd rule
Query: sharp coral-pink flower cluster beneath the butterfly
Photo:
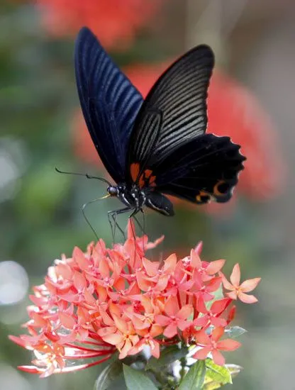
[[[255,302],[246,293],[260,278],[240,284],[236,265],[228,282],[221,273],[225,260],[201,261],[201,244],[178,261],[174,254],[162,262],[148,260],[145,250],[162,239],[149,243],[146,235],[135,237],[129,223],[125,243],[108,249],[99,240],[86,253],[75,247],[71,258],[55,260],[30,296],[33,306],[24,325],[29,335],[11,336],[35,353],[32,366],[19,368],[47,377],[99,364],[117,350],[123,359],[145,345],[157,358],[162,348],[179,342],[195,346],[196,359],[211,353],[223,365],[220,351],[240,346],[220,340],[233,320],[231,303],[237,298]],[[222,284],[229,292],[216,299]],[[87,358],[90,363],[69,364]]]

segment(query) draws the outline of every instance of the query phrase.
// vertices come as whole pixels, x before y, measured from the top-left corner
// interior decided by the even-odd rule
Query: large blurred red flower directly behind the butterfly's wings
[[[146,96],[167,65],[168,62],[134,65],[125,70],[130,81]],[[282,191],[284,164],[269,116],[250,91],[219,70],[214,72],[208,92],[208,133],[229,135],[234,143],[241,145],[247,161],[240,174],[238,192],[260,200],[270,199]],[[79,157],[101,164],[80,111],[75,116],[74,139]],[[227,209],[214,202],[206,208],[210,211]]]

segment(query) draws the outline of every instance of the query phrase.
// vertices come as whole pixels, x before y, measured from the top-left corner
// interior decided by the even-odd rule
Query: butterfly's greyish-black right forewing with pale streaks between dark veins
[[[155,167],[207,127],[206,98],[214,57],[200,45],[174,62],[150,90],[135,120],[128,147],[129,167]],[[134,174],[126,172],[130,182]]]

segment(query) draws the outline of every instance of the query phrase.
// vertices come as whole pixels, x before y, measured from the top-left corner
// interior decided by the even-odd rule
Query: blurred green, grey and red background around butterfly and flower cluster
[[[30,288],[53,260],[95,239],[81,206],[106,187],[55,172],[106,175],[74,84],[74,39],[84,25],[144,96],[177,56],[212,46],[208,131],[242,145],[245,171],[229,204],[175,201],[173,220],[147,213],[146,231],[166,236],[154,257],[187,255],[204,240],[205,259],[226,258],[228,271],[239,262],[243,279],[262,277],[259,303],[238,304],[236,323],[249,332],[228,355],[245,368],[232,389],[294,388],[294,17],[291,0],[1,0],[1,390],[92,389],[101,370],[41,380],[18,372],[30,352],[7,339],[22,333]],[[108,245],[106,212],[118,207],[106,199],[87,210]]]

